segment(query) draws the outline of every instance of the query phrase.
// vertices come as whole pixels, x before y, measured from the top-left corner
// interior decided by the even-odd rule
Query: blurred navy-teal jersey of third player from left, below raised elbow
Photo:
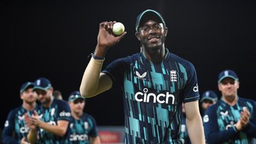
[[[70,144],[90,143],[90,138],[98,136],[95,119],[88,114],[83,114],[80,119],[71,117],[68,133],[67,137]]]

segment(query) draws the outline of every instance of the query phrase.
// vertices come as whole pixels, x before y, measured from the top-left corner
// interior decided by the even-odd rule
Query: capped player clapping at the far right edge
[[[252,143],[256,137],[256,103],[238,97],[238,77],[233,70],[219,74],[222,97],[205,111],[203,118],[206,142]]]

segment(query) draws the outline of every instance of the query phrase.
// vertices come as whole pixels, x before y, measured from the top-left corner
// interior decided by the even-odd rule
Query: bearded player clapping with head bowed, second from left
[[[66,132],[71,117],[68,102],[53,98],[53,87],[46,78],[38,78],[33,90],[42,105],[31,117],[26,115],[29,142],[68,143]]]

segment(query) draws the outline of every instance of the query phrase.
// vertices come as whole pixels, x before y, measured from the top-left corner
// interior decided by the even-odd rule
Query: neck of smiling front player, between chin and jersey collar
[[[164,44],[159,47],[159,49],[145,49],[143,47],[143,54],[145,55],[145,57],[152,61],[153,63],[158,63],[160,61],[162,61],[165,57],[165,48],[164,48]]]

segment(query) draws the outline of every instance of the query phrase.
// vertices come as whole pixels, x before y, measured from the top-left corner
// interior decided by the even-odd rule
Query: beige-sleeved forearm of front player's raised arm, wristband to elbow
[[[102,63],[103,60],[91,58],[87,65],[80,85],[80,92],[83,97],[90,98],[97,92]]]

